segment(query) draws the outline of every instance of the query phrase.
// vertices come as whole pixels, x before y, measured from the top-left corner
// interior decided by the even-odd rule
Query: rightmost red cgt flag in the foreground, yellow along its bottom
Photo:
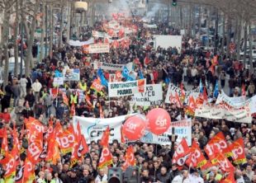
[[[230,149],[233,154],[232,157],[233,157],[235,164],[239,165],[239,164],[244,164],[246,162],[243,138],[239,138],[239,139],[235,140],[235,142],[233,142],[230,145]]]

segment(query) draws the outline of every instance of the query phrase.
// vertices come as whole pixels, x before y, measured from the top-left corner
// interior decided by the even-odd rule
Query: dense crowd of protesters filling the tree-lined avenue
[[[1,129],[7,127],[8,148],[12,149],[12,131],[13,125],[17,127],[20,135],[21,163],[17,167],[17,172],[24,165],[26,159],[26,148],[28,148],[26,134],[21,135],[21,129],[24,128],[24,119],[35,117],[45,126],[48,125],[49,119],[60,120],[62,126],[71,123],[70,107],[72,102],[75,105],[75,115],[84,117],[100,117],[100,106],[102,106],[105,118],[111,118],[119,115],[129,114],[131,111],[146,115],[147,112],[156,106],[130,106],[130,96],[113,98],[108,100],[107,88],[102,92],[94,92],[90,86],[92,81],[97,77],[97,70],[93,69],[94,60],[100,60],[107,63],[125,64],[134,62],[134,73],[141,69],[147,84],[162,83],[163,96],[167,92],[168,82],[176,86],[181,83],[186,87],[196,88],[199,82],[206,87],[208,97],[212,98],[212,92],[216,85],[216,80],[220,81],[220,87],[229,88],[229,96],[240,96],[241,86],[244,85],[248,97],[255,95],[256,76],[249,73],[248,69],[239,61],[232,60],[225,55],[221,55],[219,64],[211,71],[211,60],[215,55],[212,50],[202,52],[196,49],[200,40],[188,43],[189,39],[183,38],[183,48],[154,49],[151,45],[145,45],[149,40],[149,34],[178,35],[179,31],[172,27],[161,24],[159,29],[147,29],[143,22],[135,21],[138,26],[138,32],[130,37],[129,49],[111,49],[109,54],[83,54],[83,50],[78,47],[72,47],[68,44],[60,49],[55,49],[54,58],[46,58],[43,62],[38,63],[33,68],[30,76],[12,77],[10,75],[8,84],[4,87],[4,93],[1,94]],[[97,22],[89,30],[101,30],[102,23]],[[90,34],[85,34],[83,40],[88,40]],[[145,46],[144,46],[145,45]],[[181,53],[178,54],[178,49]],[[145,65],[145,57],[148,56],[150,62]],[[80,68],[80,81],[65,82],[66,96],[69,103],[64,102],[63,95],[59,93],[53,96],[50,88],[54,88],[55,71],[60,73],[65,67]],[[109,79],[111,71],[104,73]],[[228,81],[228,82],[226,82]],[[72,89],[83,90],[88,95],[93,107],[88,102],[78,101],[76,92]],[[162,104],[168,110],[172,121],[192,118],[192,139],[197,141],[200,148],[203,149],[206,143],[215,134],[222,131],[228,142],[237,138],[244,138],[244,152],[246,153],[247,163],[237,166],[235,170],[235,180],[242,182],[256,182],[256,121],[253,119],[252,124],[239,124],[225,120],[210,120],[202,118],[193,118],[179,109],[176,104]],[[12,109],[12,112],[10,111]],[[0,130],[1,130],[0,129]],[[1,132],[0,132],[1,134]],[[211,170],[203,173],[200,169],[189,168],[184,166],[178,169],[177,164],[172,164],[174,147],[171,144],[160,146],[148,143],[132,143],[134,145],[136,166],[140,168],[140,182],[219,182],[225,175],[221,173],[218,167],[211,167]],[[111,167],[121,167],[126,154],[126,143],[114,141],[110,144],[113,155]],[[97,142],[89,144],[89,152],[82,161],[70,168],[70,155],[67,154],[61,160],[53,165],[50,162],[41,161],[36,164],[35,182],[56,182],[56,183],[91,183],[107,182],[107,171],[97,168],[97,162],[101,156],[102,147]],[[2,157],[1,157],[2,158]],[[1,176],[4,170],[1,168]],[[19,176],[17,174],[17,176]],[[4,182],[4,181],[3,181]]]

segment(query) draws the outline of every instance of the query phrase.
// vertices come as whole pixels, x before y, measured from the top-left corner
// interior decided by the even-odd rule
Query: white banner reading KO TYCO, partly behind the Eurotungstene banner
[[[144,93],[135,93],[132,101],[137,106],[153,106],[163,103],[163,92],[161,84],[146,85]]]

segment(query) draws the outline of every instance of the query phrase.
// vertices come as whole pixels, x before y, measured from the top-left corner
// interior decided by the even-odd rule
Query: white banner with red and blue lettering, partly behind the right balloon
[[[178,135],[176,142],[182,141],[183,138],[186,138],[187,144],[192,145],[192,122],[191,120],[180,120],[172,122],[168,131],[161,135],[155,135],[151,132],[146,132],[143,138],[140,138],[140,141],[143,143],[156,143],[160,145],[170,145],[172,142],[169,140],[168,136],[172,135],[172,129],[174,128],[174,134]]]

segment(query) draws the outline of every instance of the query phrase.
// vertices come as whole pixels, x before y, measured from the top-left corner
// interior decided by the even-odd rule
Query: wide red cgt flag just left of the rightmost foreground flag
[[[219,132],[216,136],[211,138],[205,147],[205,152],[213,164],[216,163],[216,154],[214,152],[216,150],[224,154],[230,152],[230,148],[228,147],[225,136],[222,132]]]

